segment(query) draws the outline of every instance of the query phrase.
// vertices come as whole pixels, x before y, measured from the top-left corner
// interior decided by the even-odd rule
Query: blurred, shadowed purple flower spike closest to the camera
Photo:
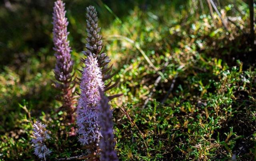
[[[104,96],[104,92],[100,90],[100,131],[102,139],[100,139],[100,149],[102,161],[118,161],[116,151],[114,150],[114,134],[113,134],[113,110],[110,110],[108,98]]]

